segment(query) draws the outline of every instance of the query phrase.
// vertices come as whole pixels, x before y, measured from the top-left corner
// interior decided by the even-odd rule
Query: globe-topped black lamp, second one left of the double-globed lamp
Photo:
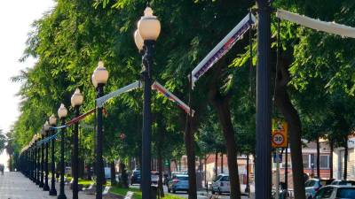
[[[71,98],[72,107],[75,109],[75,118],[79,117],[80,115],[80,106],[83,104],[83,95],[80,93],[80,89],[76,88],[75,92]],[[79,180],[79,139],[78,139],[78,130],[79,130],[79,123],[75,122],[74,126],[74,134],[73,134],[73,161],[72,161],[72,169],[73,169],[73,199],[78,198],[78,180]]]

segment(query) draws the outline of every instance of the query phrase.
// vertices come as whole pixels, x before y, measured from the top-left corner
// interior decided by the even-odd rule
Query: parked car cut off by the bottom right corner
[[[327,185],[320,188],[314,199],[355,199],[355,187]]]

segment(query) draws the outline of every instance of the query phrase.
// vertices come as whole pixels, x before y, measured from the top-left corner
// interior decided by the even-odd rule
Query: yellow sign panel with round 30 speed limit
[[[288,123],[283,119],[272,119],[272,148],[288,147]]]

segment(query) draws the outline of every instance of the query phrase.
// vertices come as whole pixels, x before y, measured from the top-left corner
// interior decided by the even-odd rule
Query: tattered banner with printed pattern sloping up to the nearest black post
[[[256,17],[248,13],[241,22],[233,28],[233,30],[225,36],[225,38],[217,44],[217,46],[209,52],[209,54],[202,59],[199,65],[197,65],[192,72],[192,83],[200,79],[200,77],[206,73],[221,57],[225,55],[237,42],[241,39],[248,29],[256,23]]]

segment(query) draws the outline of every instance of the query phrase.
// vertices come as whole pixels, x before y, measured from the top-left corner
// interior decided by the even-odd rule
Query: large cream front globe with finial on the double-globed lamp
[[[153,15],[153,10],[146,7],[144,16],[138,21],[138,31],[144,41],[158,39],[161,33],[161,22]]]

